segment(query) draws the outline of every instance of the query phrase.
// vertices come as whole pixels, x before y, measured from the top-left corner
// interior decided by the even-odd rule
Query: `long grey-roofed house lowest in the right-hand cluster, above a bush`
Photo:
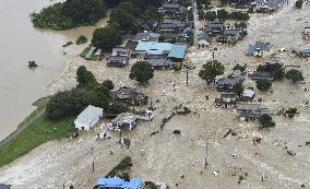
[[[262,115],[271,115],[270,109],[261,104],[239,104],[237,111],[245,119],[258,119]]]

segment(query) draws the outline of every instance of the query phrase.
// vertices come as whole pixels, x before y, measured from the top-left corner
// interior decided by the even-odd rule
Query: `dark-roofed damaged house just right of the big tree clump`
[[[129,103],[131,105],[142,105],[147,103],[147,96],[139,92],[136,88],[123,86],[111,92],[111,97],[120,103]]]

